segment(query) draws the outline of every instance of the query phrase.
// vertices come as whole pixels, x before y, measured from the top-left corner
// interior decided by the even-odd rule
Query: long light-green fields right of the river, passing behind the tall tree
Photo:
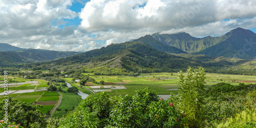
[[[85,75],[85,73],[84,73]],[[178,94],[179,90],[168,90],[178,89],[179,86],[179,75],[178,73],[142,73],[139,77],[129,76],[96,76],[91,75],[96,81],[103,80],[105,82],[126,82],[123,84],[127,89],[109,90],[108,95],[134,95],[135,90],[149,87],[153,92],[158,95],[165,94]],[[234,81],[235,80],[235,81]],[[247,75],[233,75],[233,74],[217,74],[217,73],[206,73],[205,87],[210,87],[220,82],[227,82],[234,86],[238,86],[239,82],[245,83],[256,83],[255,76]],[[89,86],[84,86],[90,88]]]

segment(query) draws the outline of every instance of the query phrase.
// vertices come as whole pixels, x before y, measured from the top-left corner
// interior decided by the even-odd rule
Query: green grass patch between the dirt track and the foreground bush
[[[53,114],[53,118],[60,118],[62,115],[67,113],[65,109],[71,110],[73,107],[77,106],[81,100],[81,96],[74,93],[67,93],[67,89],[68,88],[65,88],[63,89],[64,92],[60,92],[60,94],[62,95],[62,101],[58,108],[61,111],[55,111]]]

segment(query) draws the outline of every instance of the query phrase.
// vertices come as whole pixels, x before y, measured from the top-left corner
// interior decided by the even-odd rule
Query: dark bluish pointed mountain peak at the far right
[[[226,40],[195,54],[210,56],[237,57],[241,59],[255,59],[256,34],[250,30],[237,28],[226,33]]]

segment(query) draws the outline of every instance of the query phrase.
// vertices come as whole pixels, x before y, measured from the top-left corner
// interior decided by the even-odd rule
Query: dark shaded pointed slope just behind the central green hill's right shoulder
[[[133,41],[144,42],[145,44],[150,45],[151,47],[166,53],[186,53],[176,47],[163,44],[161,41],[154,39],[151,35],[145,35],[144,37],[140,37]]]

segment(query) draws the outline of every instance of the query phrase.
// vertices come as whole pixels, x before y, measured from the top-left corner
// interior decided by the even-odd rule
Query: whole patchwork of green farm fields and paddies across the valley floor
[[[88,75],[88,73],[83,73]],[[96,82],[87,82],[88,86],[80,87],[79,83],[71,83],[73,87],[77,87],[80,91],[86,94],[98,93],[100,91],[106,91],[109,96],[115,95],[134,95],[135,90],[149,87],[150,90],[158,95],[169,95],[170,93],[178,94],[179,75],[178,73],[142,73],[137,77],[130,76],[104,76],[94,75],[90,73],[90,77],[94,78]],[[0,77],[2,80],[3,77]],[[12,78],[14,79],[14,78]],[[64,78],[66,81],[71,81],[73,78]],[[103,80],[104,85],[99,84],[99,81]],[[16,82],[25,82],[25,84],[12,85],[8,88],[10,90],[10,97],[30,104],[41,104],[42,108],[38,110],[47,113],[51,111],[59,101],[58,92],[39,91],[38,88],[47,88],[47,81],[41,79],[23,79],[15,78]],[[38,81],[38,83],[28,83],[29,81]],[[1,81],[0,81],[1,82]],[[27,83],[26,83],[27,82]],[[210,87],[214,84],[226,82],[233,86],[239,86],[239,82],[245,84],[256,83],[255,76],[248,75],[230,75],[230,74],[217,74],[206,73],[205,87]],[[13,82],[12,82],[13,83]],[[122,87],[122,88],[121,88]],[[81,100],[81,96],[68,93],[68,88],[63,88],[62,101],[58,106],[58,111],[55,111],[53,117],[61,117],[67,113],[68,110],[72,110]],[[26,91],[33,92],[26,92]],[[0,94],[4,92],[3,86],[0,86]],[[18,92],[18,93],[17,93]],[[21,93],[19,93],[21,92]],[[16,94],[14,94],[16,93]],[[0,101],[5,99],[3,95],[0,95]],[[36,101],[36,102],[35,102]]]

